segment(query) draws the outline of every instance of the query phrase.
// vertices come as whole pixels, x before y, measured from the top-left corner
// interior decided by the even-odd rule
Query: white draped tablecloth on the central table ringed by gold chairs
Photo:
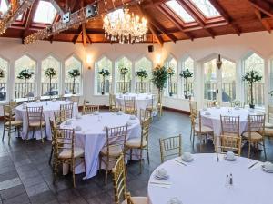
[[[100,118],[100,121],[99,121]],[[76,147],[85,150],[86,161],[86,179],[96,176],[99,168],[99,152],[106,143],[106,131],[104,127],[109,128],[126,125],[130,115],[116,113],[100,113],[99,115],[84,115],[81,119],[73,119],[72,124],[67,126],[61,124],[61,128],[75,128],[80,126],[81,131],[76,131]],[[128,126],[127,139],[140,137],[141,126],[138,119],[131,120],[134,122]],[[84,165],[76,165],[76,174],[85,172]]]

